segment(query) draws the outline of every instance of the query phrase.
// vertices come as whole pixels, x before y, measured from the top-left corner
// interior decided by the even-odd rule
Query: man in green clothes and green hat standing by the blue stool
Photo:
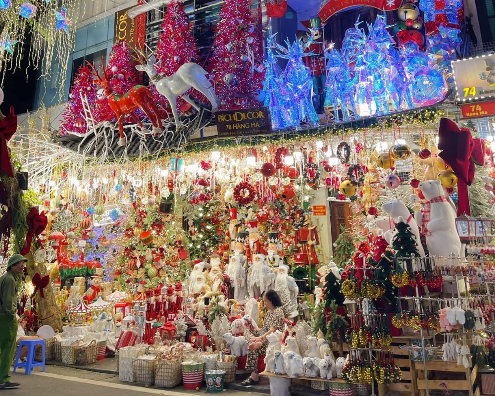
[[[0,389],[15,388],[10,382],[10,366],[14,359],[17,335],[17,288],[27,258],[15,254],[8,260],[7,272],[0,277]]]

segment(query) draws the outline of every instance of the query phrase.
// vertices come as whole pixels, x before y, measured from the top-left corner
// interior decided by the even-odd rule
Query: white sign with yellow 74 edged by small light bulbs
[[[457,100],[495,96],[495,54],[453,61]]]

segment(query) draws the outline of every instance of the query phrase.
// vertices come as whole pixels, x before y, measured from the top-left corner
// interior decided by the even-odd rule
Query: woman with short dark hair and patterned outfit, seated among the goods
[[[258,357],[264,355],[268,341],[266,336],[274,333],[277,330],[282,331],[284,328],[284,311],[282,310],[282,301],[275,290],[268,290],[263,294],[263,303],[268,309],[264,319],[264,327],[257,334],[253,329],[248,329],[244,332],[248,349],[246,370],[251,372],[251,376],[242,382],[242,385],[255,385],[259,382],[258,375]]]

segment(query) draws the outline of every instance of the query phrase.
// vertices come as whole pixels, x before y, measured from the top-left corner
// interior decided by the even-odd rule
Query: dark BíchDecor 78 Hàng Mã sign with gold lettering
[[[270,112],[267,107],[217,111],[215,114],[219,137],[262,135],[272,132]]]

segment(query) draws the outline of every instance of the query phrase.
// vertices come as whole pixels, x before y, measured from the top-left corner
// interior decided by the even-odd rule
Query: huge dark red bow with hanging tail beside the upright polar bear
[[[459,129],[455,122],[448,118],[440,120],[438,130],[438,148],[443,150],[438,154],[457,175],[457,194],[459,202],[457,215],[471,215],[467,186],[474,180],[474,165],[485,163],[485,145],[482,139],[473,139],[469,129]]]

